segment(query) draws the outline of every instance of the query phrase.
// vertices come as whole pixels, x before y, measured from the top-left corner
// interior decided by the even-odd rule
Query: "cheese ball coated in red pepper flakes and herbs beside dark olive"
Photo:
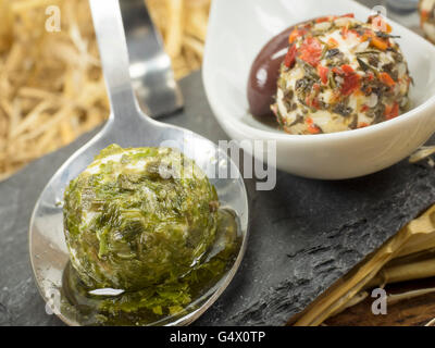
[[[297,26],[282,63],[271,105],[289,134],[321,134],[397,117],[409,104],[412,82],[391,27],[352,14]]]

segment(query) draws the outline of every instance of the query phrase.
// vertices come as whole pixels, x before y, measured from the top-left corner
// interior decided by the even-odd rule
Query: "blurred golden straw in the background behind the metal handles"
[[[176,78],[200,67],[210,0],[147,0]],[[47,32],[46,10],[61,10]],[[109,114],[88,0],[0,0],[0,181]]]

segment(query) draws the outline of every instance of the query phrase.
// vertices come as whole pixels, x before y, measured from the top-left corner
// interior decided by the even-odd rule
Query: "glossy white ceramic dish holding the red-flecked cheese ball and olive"
[[[249,114],[247,80],[260,49],[293,24],[345,13],[366,21],[371,9],[351,0],[212,2],[202,71],[210,105],[232,139],[275,139],[276,166],[283,171],[325,179],[362,176],[408,157],[435,132],[435,46],[394,22],[415,80],[411,111],[365,128],[321,135],[288,135]]]

